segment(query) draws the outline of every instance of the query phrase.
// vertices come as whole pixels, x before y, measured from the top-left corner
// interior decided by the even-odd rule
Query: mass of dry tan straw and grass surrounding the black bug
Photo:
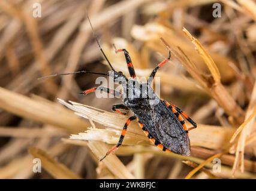
[[[220,1],[216,18],[210,0],[42,0],[42,17],[34,18],[36,2],[0,1],[0,178],[255,178],[254,1]],[[116,155],[98,162],[127,119],[110,112],[121,100],[79,96],[95,86],[90,74],[37,80],[109,70],[86,14],[125,75],[113,43],[129,51],[139,77],[170,47],[171,61],[156,76],[161,98],[198,123],[189,133],[191,156],[161,152],[132,122]],[[32,171],[33,158],[41,159],[41,173]]]

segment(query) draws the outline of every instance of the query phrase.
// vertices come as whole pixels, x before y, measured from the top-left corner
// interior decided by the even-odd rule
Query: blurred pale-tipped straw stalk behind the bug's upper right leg
[[[159,41],[159,38],[163,38],[167,44],[171,45],[171,47],[182,48],[182,50],[185,51],[185,54],[189,55],[192,62],[197,63],[197,67],[200,70],[204,72],[207,71],[206,64],[199,54],[195,54],[197,52],[194,50],[191,42],[184,38],[184,35],[180,30],[173,29],[173,26],[171,26],[170,23],[160,20],[158,23],[156,21],[150,22],[144,26],[135,25],[132,27],[131,35],[135,39],[145,42],[144,46],[150,50],[165,55],[167,54],[166,48],[162,45],[161,41]],[[230,70],[228,63],[233,63],[234,61],[218,53],[210,52],[210,55],[218,66],[222,80],[226,81],[232,79],[234,77],[234,72]],[[173,66],[173,64],[171,65]]]

